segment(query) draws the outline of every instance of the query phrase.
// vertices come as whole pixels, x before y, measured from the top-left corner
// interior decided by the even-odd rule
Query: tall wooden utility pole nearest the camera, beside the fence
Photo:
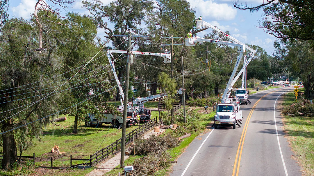
[[[122,123],[122,137],[121,137],[121,158],[120,167],[124,167],[124,152],[125,152],[125,135],[127,130],[127,97],[129,92],[129,78],[130,78],[130,60],[131,60],[131,37],[129,32],[127,40],[127,70],[125,77],[124,102],[123,102],[123,123]]]

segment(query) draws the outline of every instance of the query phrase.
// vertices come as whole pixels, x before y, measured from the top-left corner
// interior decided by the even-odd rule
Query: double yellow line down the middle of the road
[[[276,91],[279,91],[279,90],[276,90]],[[268,94],[271,94],[275,91],[272,91],[272,92],[269,92]],[[244,139],[245,139],[245,136],[246,136],[246,130],[247,130],[247,127],[249,125],[249,122],[250,122],[250,119],[252,117],[252,114],[253,114],[253,111],[255,109],[255,107],[257,106],[258,102],[261,101],[265,96],[267,96],[268,94],[262,96],[259,100],[256,101],[256,103],[254,104],[254,106],[252,107],[249,115],[247,116],[247,120],[244,124],[244,128],[243,128],[243,131],[242,131],[242,134],[241,134],[241,138],[240,138],[240,142],[239,142],[239,146],[238,146],[238,150],[236,152],[236,159],[235,159],[235,163],[233,165],[233,171],[232,171],[232,176],[235,176],[235,173],[236,173],[236,176],[239,175],[239,168],[240,168],[240,162],[241,162],[241,155],[242,155],[242,149],[243,149],[243,144],[244,144]],[[241,148],[241,149],[240,149]],[[240,153],[240,154],[239,154]],[[238,163],[238,164],[237,164]]]

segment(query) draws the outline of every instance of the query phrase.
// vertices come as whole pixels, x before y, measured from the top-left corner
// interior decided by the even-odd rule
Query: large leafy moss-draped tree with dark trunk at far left
[[[33,34],[34,28],[29,23],[14,18],[5,23],[0,36],[0,76],[3,82],[0,86],[0,126],[1,132],[6,132],[1,136],[4,169],[11,168],[17,157],[14,131],[9,130],[57,111],[59,97],[51,94],[53,80],[46,78],[59,74],[57,65],[60,65],[60,60],[50,57],[49,49],[39,54]],[[40,122],[45,122],[45,119],[18,130],[29,132],[24,137],[36,136]]]

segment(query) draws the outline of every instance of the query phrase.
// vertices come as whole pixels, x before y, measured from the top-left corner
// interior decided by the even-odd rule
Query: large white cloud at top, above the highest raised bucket
[[[195,8],[196,15],[203,20],[232,20],[236,17],[237,10],[226,3],[215,3],[213,0],[187,0]],[[205,19],[204,19],[205,18]]]

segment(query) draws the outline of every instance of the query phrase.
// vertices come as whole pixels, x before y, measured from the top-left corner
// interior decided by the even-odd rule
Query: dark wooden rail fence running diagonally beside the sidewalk
[[[157,118],[151,119],[150,121],[146,122],[145,124],[141,125],[140,127],[136,128],[132,132],[129,132],[125,137],[125,145],[129,144],[133,141],[133,138],[136,139],[144,134],[146,131],[154,127],[157,123]],[[109,155],[119,153],[121,151],[121,138],[116,140],[115,142],[111,143],[105,148],[100,149],[96,153],[89,156],[88,159],[82,158],[72,158],[70,157],[70,165],[72,167],[77,167],[80,165],[90,165],[90,167],[95,166],[97,163],[103,161],[104,159],[108,158]],[[72,165],[72,161],[85,161],[84,163]]]

